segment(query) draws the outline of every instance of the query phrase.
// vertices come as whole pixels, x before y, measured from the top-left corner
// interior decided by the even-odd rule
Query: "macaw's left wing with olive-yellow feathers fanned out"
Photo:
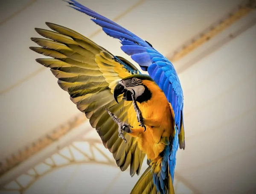
[[[59,86],[85,113],[105,147],[113,153],[120,169],[124,171],[130,166],[131,176],[139,174],[145,154],[130,135],[124,134],[127,143],[118,137],[118,126],[105,110],[107,108],[123,121],[128,121],[127,111],[131,102],[123,101],[119,96],[117,104],[113,98],[113,88],[117,80],[138,73],[137,68],[69,28],[46,24],[54,31],[35,28],[38,34],[47,39],[31,38],[41,47],[30,49],[52,58],[36,61],[51,68]]]

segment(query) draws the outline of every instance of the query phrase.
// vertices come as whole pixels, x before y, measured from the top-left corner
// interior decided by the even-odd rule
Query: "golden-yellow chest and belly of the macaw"
[[[137,103],[143,118],[160,121],[160,125],[146,126],[145,132],[137,136],[139,148],[145,152],[148,159],[154,160],[159,158],[159,154],[166,146],[166,137],[169,139],[174,130],[174,122],[169,102],[164,93],[157,86],[148,87],[151,89],[152,97],[150,100]],[[153,90],[152,90],[153,88]],[[136,112],[131,106],[128,110],[128,122],[134,128],[139,127]]]

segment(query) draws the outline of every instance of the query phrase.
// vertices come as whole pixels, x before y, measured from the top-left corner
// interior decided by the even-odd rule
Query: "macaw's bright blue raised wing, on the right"
[[[122,43],[122,51],[130,55],[142,70],[148,71],[149,76],[154,79],[172,104],[175,113],[175,124],[178,127],[180,149],[184,149],[183,91],[172,63],[156,51],[149,42],[137,37],[122,26],[84,7],[75,0],[67,2],[72,5],[72,8],[95,18],[91,20],[100,25],[106,34],[119,39]]]

